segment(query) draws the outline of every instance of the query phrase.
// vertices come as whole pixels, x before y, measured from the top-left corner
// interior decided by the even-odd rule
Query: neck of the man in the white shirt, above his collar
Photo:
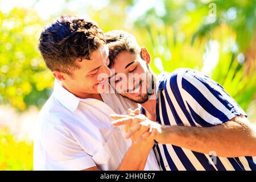
[[[60,83],[61,86],[63,86],[64,89],[68,90],[68,92],[74,94],[78,98],[83,98],[83,99],[85,99],[85,98],[95,98],[95,99],[100,100],[100,101],[103,102],[102,97],[99,93],[93,93],[93,94],[92,93],[84,93],[84,92],[80,92],[78,90],[73,89],[72,86],[69,86],[69,85],[65,84],[64,82],[62,82],[62,81],[59,81],[59,83]]]

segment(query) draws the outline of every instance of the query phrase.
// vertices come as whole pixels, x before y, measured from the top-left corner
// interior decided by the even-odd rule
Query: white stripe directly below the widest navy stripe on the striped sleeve
[[[212,125],[218,125],[222,122],[220,119],[214,117],[212,114],[208,113],[206,110],[204,110],[203,107],[193,98],[186,90],[184,90],[184,96],[186,97],[186,100],[189,105],[195,106],[195,112],[200,115],[201,118],[203,118],[206,122],[212,124]],[[200,109],[199,109],[200,108]]]

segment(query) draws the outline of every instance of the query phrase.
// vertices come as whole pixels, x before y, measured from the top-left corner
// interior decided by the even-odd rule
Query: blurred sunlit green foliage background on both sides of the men
[[[216,16],[209,6],[212,2]],[[256,79],[247,78],[254,78],[255,71],[244,65],[249,65],[247,57],[255,56],[255,0],[110,0],[102,7],[91,6],[80,7],[79,13],[65,7],[63,13],[85,11],[104,31],[131,32],[151,52],[151,67],[157,73],[197,69],[224,85],[243,109],[253,100]],[[45,22],[33,9],[0,12],[0,18],[0,102],[20,110],[42,106],[53,84],[37,50]]]

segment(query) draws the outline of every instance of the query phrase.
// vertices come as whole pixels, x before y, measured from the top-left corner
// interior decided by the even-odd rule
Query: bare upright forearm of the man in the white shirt
[[[132,144],[127,151],[125,158],[118,168],[118,171],[143,171],[147,157],[152,147]]]

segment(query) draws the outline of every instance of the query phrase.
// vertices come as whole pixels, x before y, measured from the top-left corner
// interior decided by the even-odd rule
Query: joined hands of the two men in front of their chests
[[[113,126],[126,125],[126,138],[131,138],[134,143],[153,142],[158,133],[161,133],[161,125],[139,114],[139,109],[129,109],[129,115],[112,114],[110,118],[115,119]]]

